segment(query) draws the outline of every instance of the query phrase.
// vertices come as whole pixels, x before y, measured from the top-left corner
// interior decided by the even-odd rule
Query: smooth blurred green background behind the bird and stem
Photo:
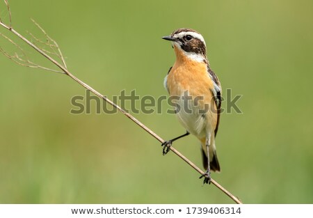
[[[74,75],[110,98],[158,98],[174,63],[161,40],[189,27],[207,42],[223,91],[243,114],[223,114],[222,173],[243,203],[313,203],[313,1],[10,1],[13,26],[41,24]],[[1,17],[8,18],[4,4]],[[5,29],[1,33],[12,36]],[[3,48],[11,50],[3,38]],[[26,48],[26,46],[23,46]],[[43,65],[49,63],[30,51]],[[0,56],[0,203],[233,203],[122,114],[72,115],[84,89],[64,75]],[[163,139],[184,133],[174,115],[135,114]],[[202,167],[199,143],[175,148]]]

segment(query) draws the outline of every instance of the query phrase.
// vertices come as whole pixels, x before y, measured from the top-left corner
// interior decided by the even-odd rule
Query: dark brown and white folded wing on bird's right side
[[[218,80],[218,77],[216,74],[211,70],[209,65],[207,66],[207,72],[209,73],[209,77],[214,81],[214,88],[211,89],[211,93],[214,96],[215,104],[216,104],[216,109],[217,109],[217,122],[216,122],[216,127],[214,130],[214,134],[218,132],[218,124],[220,123],[220,107],[222,104],[222,87],[220,86],[220,81]]]

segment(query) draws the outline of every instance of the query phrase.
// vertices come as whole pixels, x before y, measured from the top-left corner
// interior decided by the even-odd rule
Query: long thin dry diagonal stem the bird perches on
[[[35,23],[35,22],[34,22]],[[36,24],[36,23],[35,23]],[[154,133],[152,130],[150,130],[148,127],[146,127],[145,125],[143,125],[143,123],[141,123],[139,120],[137,120],[136,118],[134,118],[134,116],[131,116],[131,114],[127,113],[127,111],[125,111],[124,109],[122,109],[120,106],[118,106],[118,104],[115,104],[114,102],[112,102],[111,100],[109,100],[108,98],[106,98],[106,96],[102,95],[101,93],[99,93],[98,91],[96,91],[94,88],[88,86],[88,84],[84,83],[83,81],[81,81],[80,79],[78,79],[77,77],[75,77],[74,75],[72,75],[72,73],[70,71],[67,70],[66,65],[65,65],[65,61],[63,59],[63,55],[61,53],[61,50],[59,49],[58,45],[56,44],[56,41],[54,41],[53,39],[51,39],[49,36],[47,36],[47,33],[45,33],[45,31],[43,31],[43,29],[36,24],[36,26],[38,26],[38,28],[40,28],[40,30],[45,33],[45,36],[47,37],[48,40],[51,40],[51,42],[54,43],[54,45],[56,46],[56,49],[58,49],[58,52],[60,54],[61,57],[61,61],[63,64],[58,63],[58,61],[55,61],[54,59],[51,58],[51,56],[49,56],[47,53],[45,53],[44,51],[42,51],[42,49],[40,49],[39,47],[37,47],[36,45],[34,45],[32,42],[30,42],[29,40],[27,40],[26,38],[24,38],[24,36],[22,36],[21,34],[19,34],[17,31],[15,31],[15,29],[13,29],[11,26],[8,26],[6,24],[4,24],[3,22],[0,22],[0,25],[3,26],[5,29],[8,29],[9,31],[11,31],[12,33],[14,33],[16,36],[18,36],[19,38],[21,38],[24,42],[26,42],[29,46],[33,47],[33,49],[35,49],[37,52],[39,52],[40,54],[42,54],[42,56],[45,56],[46,59],[48,59],[49,61],[51,61],[52,63],[54,63],[54,65],[58,66],[58,68],[60,68],[64,74],[66,74],[67,76],[71,77],[72,79],[74,79],[75,81],[77,81],[77,83],[79,83],[81,86],[85,87],[86,89],[88,89],[89,91],[93,92],[95,95],[97,95],[99,98],[102,98],[103,100],[105,100],[106,102],[108,102],[109,104],[111,104],[113,107],[115,107],[116,109],[118,109],[120,112],[122,112],[122,114],[125,114],[125,116],[127,116],[129,119],[131,119],[134,123],[136,123],[137,125],[139,125],[141,128],[143,128],[143,130],[145,130],[146,132],[148,132],[149,134],[152,135],[152,137],[154,137],[155,139],[157,139],[158,141],[160,141],[161,143],[164,142],[163,139],[161,139],[161,137],[159,137],[156,133]],[[195,169],[195,171],[198,171],[198,173],[200,173],[201,175],[204,174],[204,172],[198,168],[198,166],[195,166],[195,164],[193,164],[193,162],[191,162],[189,159],[187,159],[186,157],[184,157],[184,155],[182,155],[181,153],[179,153],[179,151],[177,151],[175,148],[173,148],[172,146],[170,147],[170,150],[172,150],[173,153],[175,153],[176,155],[178,155],[180,158],[182,158],[187,164],[189,164],[191,167],[193,167],[193,169]],[[232,200],[236,203],[241,204],[242,202],[239,200],[239,198],[237,198],[236,196],[234,196],[233,194],[231,194],[230,192],[228,192],[224,187],[222,187],[221,185],[218,184],[218,182],[216,182],[215,180],[211,179],[211,183],[213,183],[216,187],[218,187],[218,189],[220,189],[222,192],[224,192],[225,194],[227,194],[227,196],[229,196],[230,198],[232,198]]]

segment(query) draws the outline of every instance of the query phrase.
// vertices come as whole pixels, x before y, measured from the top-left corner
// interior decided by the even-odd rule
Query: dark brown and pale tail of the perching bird
[[[201,144],[201,153],[202,153],[203,167],[204,167],[204,169],[207,170],[207,149],[205,146],[205,140],[202,141],[202,144]],[[214,139],[211,141],[209,153],[210,153],[210,170],[214,171],[214,172],[220,172],[220,164],[218,163],[218,158],[216,155],[216,147],[215,147],[215,140]]]

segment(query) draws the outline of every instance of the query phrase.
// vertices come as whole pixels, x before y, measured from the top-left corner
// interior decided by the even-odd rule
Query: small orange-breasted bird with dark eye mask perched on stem
[[[186,134],[162,143],[163,155],[172,142],[193,134],[201,142],[204,183],[211,182],[210,170],[220,171],[215,138],[220,120],[222,88],[207,60],[204,38],[193,29],[177,29],[170,36],[176,61],[165,77],[164,86],[175,104],[175,114]]]

